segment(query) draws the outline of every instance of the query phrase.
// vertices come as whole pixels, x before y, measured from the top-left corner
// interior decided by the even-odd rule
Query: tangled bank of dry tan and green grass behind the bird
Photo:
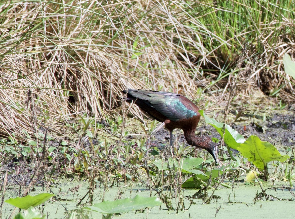
[[[113,115],[126,88],[191,99],[207,92],[217,102],[236,78],[294,101],[294,83],[281,87],[289,79],[281,59],[294,53],[294,18],[283,10],[288,5],[278,17],[258,3],[261,16],[253,17],[257,5],[244,1],[2,2],[1,135],[33,136],[39,126],[62,134],[78,115]]]

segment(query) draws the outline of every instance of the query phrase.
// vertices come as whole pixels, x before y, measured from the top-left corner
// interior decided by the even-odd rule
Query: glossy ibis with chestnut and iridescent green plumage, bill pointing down
[[[178,93],[144,91],[128,89],[125,101],[134,101],[143,111],[160,122],[170,131],[170,146],[172,146],[172,131],[181,128],[186,142],[198,148],[207,150],[216,159],[215,144],[211,138],[196,136],[196,127],[200,120],[199,108],[188,98]]]

